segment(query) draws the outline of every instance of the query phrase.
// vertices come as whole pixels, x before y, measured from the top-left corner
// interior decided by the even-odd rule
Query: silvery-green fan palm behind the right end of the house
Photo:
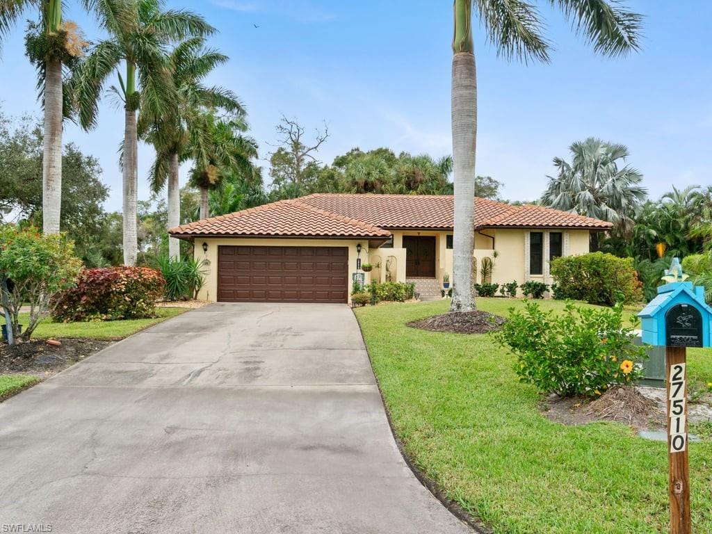
[[[619,168],[629,151],[625,145],[589,137],[570,146],[571,162],[554,158],[556,177],[542,196],[546,206],[609,221],[615,231],[629,235],[634,216],[648,192],[641,187],[643,175],[630,165]]]

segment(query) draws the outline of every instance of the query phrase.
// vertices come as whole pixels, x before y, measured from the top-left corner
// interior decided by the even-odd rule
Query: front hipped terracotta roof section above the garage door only
[[[182,236],[312,236],[387,238],[391,233],[349,216],[309,206],[299,199],[282,200],[232,214],[177,226]]]

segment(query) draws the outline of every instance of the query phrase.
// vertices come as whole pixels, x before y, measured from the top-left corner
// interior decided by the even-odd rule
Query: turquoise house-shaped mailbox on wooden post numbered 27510
[[[643,342],[663,345],[668,410],[668,492],[671,534],[691,534],[690,464],[687,436],[687,348],[712,345],[712,308],[704,288],[686,281],[678,258],[665,271],[667,283],[638,314]]]

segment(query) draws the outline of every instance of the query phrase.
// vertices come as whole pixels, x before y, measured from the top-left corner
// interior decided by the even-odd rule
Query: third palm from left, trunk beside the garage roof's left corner
[[[202,80],[211,70],[228,61],[227,56],[206,49],[203,38],[192,38],[179,43],[169,56],[171,78],[177,99],[160,115],[143,111],[139,115],[140,135],[156,150],[151,167],[150,182],[155,193],[168,184],[168,227],[180,224],[180,198],[178,168],[190,157],[189,131],[200,135],[203,130],[195,125],[201,112],[207,108],[244,115],[244,108],[231,91],[207,87]],[[180,244],[169,237],[168,255],[179,256]]]

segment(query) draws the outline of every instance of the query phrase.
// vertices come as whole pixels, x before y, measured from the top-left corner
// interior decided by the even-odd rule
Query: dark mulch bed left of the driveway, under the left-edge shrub
[[[0,343],[0,374],[23,373],[49,377],[66,367],[84,360],[111,344],[110,341],[63,339],[61,345],[49,345],[47,340]]]

